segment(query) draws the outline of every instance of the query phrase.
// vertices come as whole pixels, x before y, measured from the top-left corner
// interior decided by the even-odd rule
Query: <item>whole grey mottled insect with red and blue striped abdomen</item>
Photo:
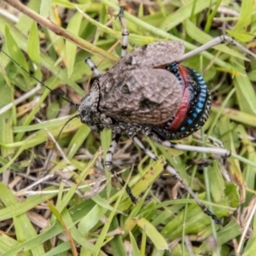
[[[126,54],[129,32],[125,25],[124,7],[120,8],[119,20],[123,27],[121,60],[105,74],[98,71],[90,58],[85,60],[95,80],[90,93],[79,105],[78,115],[92,131],[102,131],[103,128],[113,131],[105,162],[108,170],[121,185],[125,185],[113,170],[112,163],[122,131],[126,131],[133,142],[153,160],[158,160],[157,156],[143,146],[137,136],[138,131],[167,148],[229,157],[230,151],[223,148],[193,147],[169,141],[187,137],[200,129],[207,121],[211,108],[211,95],[201,75],[179,63],[225,42],[235,44],[249,55],[253,53],[232,38],[222,36],[188,54],[184,54],[184,45],[180,41],[156,42]],[[172,166],[166,164],[165,169],[183,184],[203,212],[221,224],[220,219],[207,209]],[[126,191],[131,201],[136,203],[137,198],[132,195],[129,186],[126,186]]]

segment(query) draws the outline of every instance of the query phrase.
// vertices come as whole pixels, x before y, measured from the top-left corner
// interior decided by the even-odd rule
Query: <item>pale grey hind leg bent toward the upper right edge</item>
[[[213,38],[211,41],[207,42],[207,44],[203,44],[200,47],[189,51],[188,53],[184,54],[181,58],[179,58],[176,62],[180,63],[182,61],[189,59],[192,56],[198,55],[204,50],[210,49],[218,44],[224,44],[224,43],[234,44],[238,49],[247,53],[248,55],[252,55],[253,58],[256,59],[256,55],[252,51],[250,51],[249,49],[245,48],[244,46],[236,42],[236,40],[234,40],[233,38],[222,35],[217,38]]]

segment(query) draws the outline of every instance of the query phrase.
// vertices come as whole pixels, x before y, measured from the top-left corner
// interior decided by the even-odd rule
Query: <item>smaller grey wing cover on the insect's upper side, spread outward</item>
[[[125,55],[108,73],[140,67],[158,67],[177,61],[184,53],[181,41],[162,41],[139,47]]]

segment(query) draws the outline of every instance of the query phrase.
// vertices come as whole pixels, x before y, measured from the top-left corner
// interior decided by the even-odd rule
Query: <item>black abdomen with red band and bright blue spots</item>
[[[176,62],[167,65],[166,69],[175,74],[183,87],[183,98],[175,116],[163,124],[153,125],[153,130],[165,139],[188,137],[206,123],[211,110],[211,95],[201,74],[194,69]]]

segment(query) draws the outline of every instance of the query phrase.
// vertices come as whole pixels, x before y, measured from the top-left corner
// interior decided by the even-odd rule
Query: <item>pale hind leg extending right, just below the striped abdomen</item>
[[[160,145],[166,148],[175,148],[184,151],[194,151],[198,153],[208,153],[208,154],[216,154],[223,158],[228,158],[231,156],[231,152],[225,148],[208,148],[208,147],[199,147],[199,146],[191,146],[191,145],[183,145],[183,144],[176,144],[171,143],[169,141],[162,140],[160,137],[157,136],[154,132],[150,131],[150,128],[147,127],[143,128],[143,134],[147,137],[152,139],[155,143],[159,143]],[[211,158],[213,160],[214,158]]]

